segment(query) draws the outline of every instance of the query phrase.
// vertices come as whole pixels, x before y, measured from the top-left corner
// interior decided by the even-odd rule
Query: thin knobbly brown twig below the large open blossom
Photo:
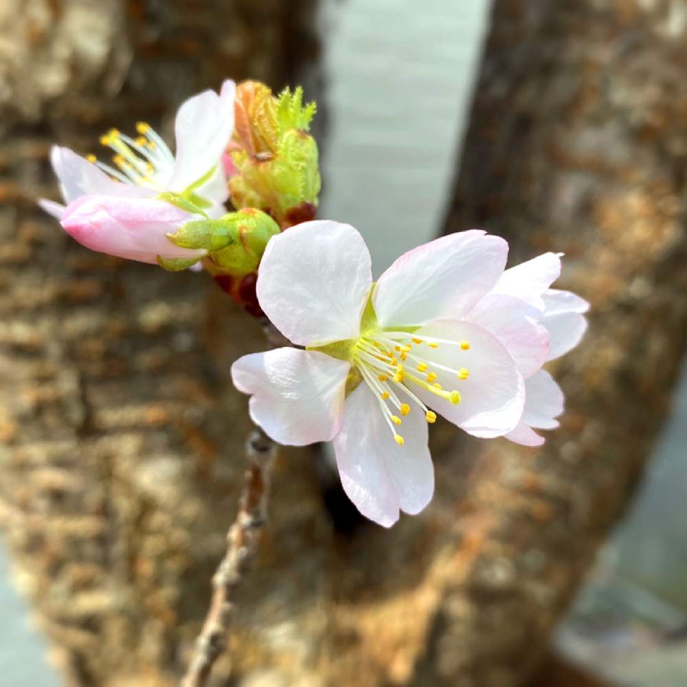
[[[212,578],[212,600],[203,629],[181,687],[203,687],[212,666],[225,651],[236,593],[252,563],[264,523],[267,521],[269,475],[277,444],[261,429],[246,442],[248,469],[238,515],[227,533],[227,552]]]

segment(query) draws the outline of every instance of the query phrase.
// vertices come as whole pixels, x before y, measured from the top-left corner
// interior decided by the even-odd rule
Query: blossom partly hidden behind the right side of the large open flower
[[[553,253],[511,267],[466,317],[506,346],[525,378],[523,416],[505,436],[526,446],[543,444],[534,429],[555,429],[563,412],[563,392],[541,366],[575,348],[587,329],[589,304],[549,288],[560,273],[560,256]]]

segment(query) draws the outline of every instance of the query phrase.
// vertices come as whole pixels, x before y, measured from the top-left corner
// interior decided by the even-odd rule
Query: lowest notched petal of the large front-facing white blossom
[[[431,500],[434,471],[427,447],[427,422],[418,409],[403,418],[399,446],[379,401],[365,383],[346,400],[341,431],[334,439],[343,491],[365,516],[384,527],[398,511],[419,513]]]

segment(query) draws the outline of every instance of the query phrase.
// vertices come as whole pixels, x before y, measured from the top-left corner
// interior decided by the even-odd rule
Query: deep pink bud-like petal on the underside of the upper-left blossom
[[[82,196],[67,206],[61,223],[92,251],[155,264],[157,256],[170,260],[205,255],[179,248],[166,236],[195,219],[199,217],[155,199]]]

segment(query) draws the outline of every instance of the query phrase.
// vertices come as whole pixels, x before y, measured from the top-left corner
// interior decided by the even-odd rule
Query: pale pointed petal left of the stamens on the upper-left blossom
[[[156,192],[133,184],[114,181],[94,164],[76,155],[74,150],[52,146],[50,161],[67,204],[85,195],[149,198]]]

